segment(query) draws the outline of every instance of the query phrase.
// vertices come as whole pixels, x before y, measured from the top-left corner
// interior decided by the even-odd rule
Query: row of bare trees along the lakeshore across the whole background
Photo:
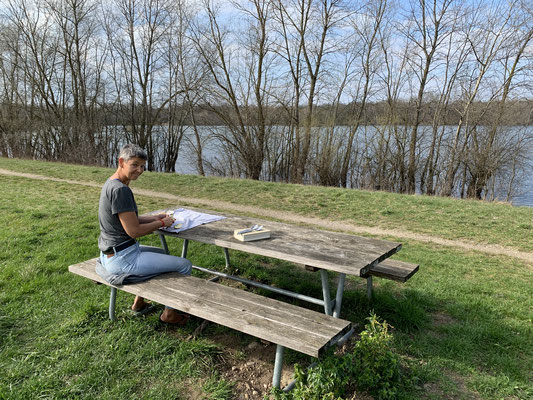
[[[113,165],[127,141],[174,171],[186,140],[202,175],[475,198],[529,172],[526,0],[0,10],[2,156]]]

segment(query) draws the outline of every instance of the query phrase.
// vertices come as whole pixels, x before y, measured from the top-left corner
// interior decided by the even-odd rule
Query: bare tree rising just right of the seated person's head
[[[171,0],[115,0],[106,11],[116,102],[121,113],[127,110],[119,120],[128,140],[147,150],[148,169],[156,165],[154,129],[159,117],[181,93],[174,86],[169,91],[164,79],[172,10]]]

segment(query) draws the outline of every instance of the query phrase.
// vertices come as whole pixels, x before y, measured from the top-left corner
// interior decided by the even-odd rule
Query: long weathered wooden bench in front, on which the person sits
[[[115,319],[117,289],[275,343],[273,385],[279,388],[285,347],[319,357],[353,332],[351,322],[224,286],[194,276],[167,273],[151,280],[113,286],[96,274],[96,259],[69,271],[111,287],[109,316]]]

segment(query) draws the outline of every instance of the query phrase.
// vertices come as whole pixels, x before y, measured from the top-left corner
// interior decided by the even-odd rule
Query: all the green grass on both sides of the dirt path
[[[98,183],[110,174],[104,168],[5,159],[0,168]],[[220,372],[225,349],[213,337],[223,332],[245,343],[251,338],[212,326],[186,341],[199,321],[172,329],[157,322],[157,313],[133,318],[127,312],[132,297],[122,293],[119,320],[112,323],[108,289],[67,272],[68,265],[97,255],[98,188],[1,174],[0,185],[0,399],[234,398],[232,382]],[[414,232],[420,227],[440,237],[531,249],[529,228],[515,232],[533,221],[526,207],[155,173],[135,187],[266,208],[277,204],[280,210],[363,226]],[[248,193],[257,193],[257,203]],[[322,205],[313,208],[313,202]],[[170,205],[146,196],[137,203],[140,212]],[[420,271],[406,284],[375,279],[371,302],[364,281],[348,279],[342,317],[363,326],[374,310],[394,326],[396,349],[420,378],[403,397],[531,398],[531,265],[400,241],[397,258],[419,263]],[[168,242],[179,254],[180,241]],[[158,244],[155,236],[143,243]],[[224,265],[223,252],[213,246],[191,243],[189,254],[198,265]],[[242,276],[320,295],[319,279],[290,263],[231,256]],[[288,352],[286,361],[307,358]]]

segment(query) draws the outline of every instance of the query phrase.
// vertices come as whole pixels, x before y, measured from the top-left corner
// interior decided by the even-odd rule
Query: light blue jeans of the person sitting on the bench
[[[192,263],[186,258],[165,254],[158,247],[140,246],[139,243],[107,257],[100,252],[102,266],[112,274],[154,275],[179,272],[190,275]]]

